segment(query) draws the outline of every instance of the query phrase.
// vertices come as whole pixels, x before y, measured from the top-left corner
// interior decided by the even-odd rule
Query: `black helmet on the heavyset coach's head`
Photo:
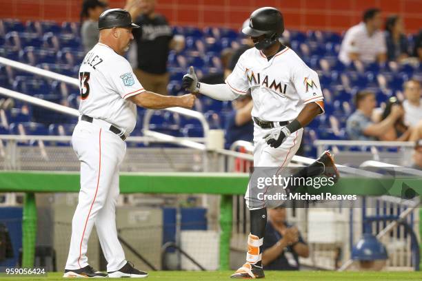
[[[108,9],[98,19],[98,29],[106,28],[139,28],[139,25],[132,23],[132,17],[127,10]]]

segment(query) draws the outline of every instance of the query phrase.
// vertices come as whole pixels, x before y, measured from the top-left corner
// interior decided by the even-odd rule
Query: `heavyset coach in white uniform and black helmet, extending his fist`
[[[79,70],[81,116],[72,145],[81,162],[81,191],[63,277],[143,278],[148,273],[125,260],[117,239],[115,207],[125,138],[135,127],[137,105],[151,109],[191,108],[195,96],[162,96],[143,90],[123,57],[133,39],[132,28],[139,28],[127,11],[106,10],[99,17],[98,27],[99,43],[86,54]],[[108,262],[108,274],[94,271],[88,264],[86,251],[94,225]]]

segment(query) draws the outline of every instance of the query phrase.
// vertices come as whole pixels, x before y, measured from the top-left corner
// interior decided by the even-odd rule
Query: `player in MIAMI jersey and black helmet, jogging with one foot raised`
[[[276,8],[252,12],[249,26],[242,32],[254,41],[246,50],[224,84],[199,83],[193,67],[183,76],[183,87],[220,101],[230,101],[252,93],[254,120],[254,166],[285,167],[301,143],[303,127],[324,112],[323,94],[316,72],[303,63],[290,48],[282,45],[283,15]],[[334,167],[329,152],[310,165],[317,174],[328,175]],[[315,169],[303,169],[296,176],[314,176]],[[332,176],[330,174],[330,176]],[[338,173],[334,176],[338,177]],[[290,187],[292,188],[292,187]],[[263,278],[261,246],[267,223],[265,204],[251,205],[250,185],[245,198],[250,209],[250,234],[246,262],[232,278]]]

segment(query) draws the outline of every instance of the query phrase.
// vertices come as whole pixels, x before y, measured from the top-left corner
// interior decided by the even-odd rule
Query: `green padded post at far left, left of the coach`
[[[34,267],[35,241],[37,240],[37,205],[35,194],[26,193],[22,218],[22,267]]]

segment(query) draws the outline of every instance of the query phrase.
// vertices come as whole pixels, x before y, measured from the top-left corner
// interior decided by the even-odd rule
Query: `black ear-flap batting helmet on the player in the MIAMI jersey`
[[[250,37],[265,35],[265,39],[255,43],[255,48],[262,50],[276,43],[284,32],[283,14],[276,8],[263,7],[250,14],[249,26],[242,32]]]

